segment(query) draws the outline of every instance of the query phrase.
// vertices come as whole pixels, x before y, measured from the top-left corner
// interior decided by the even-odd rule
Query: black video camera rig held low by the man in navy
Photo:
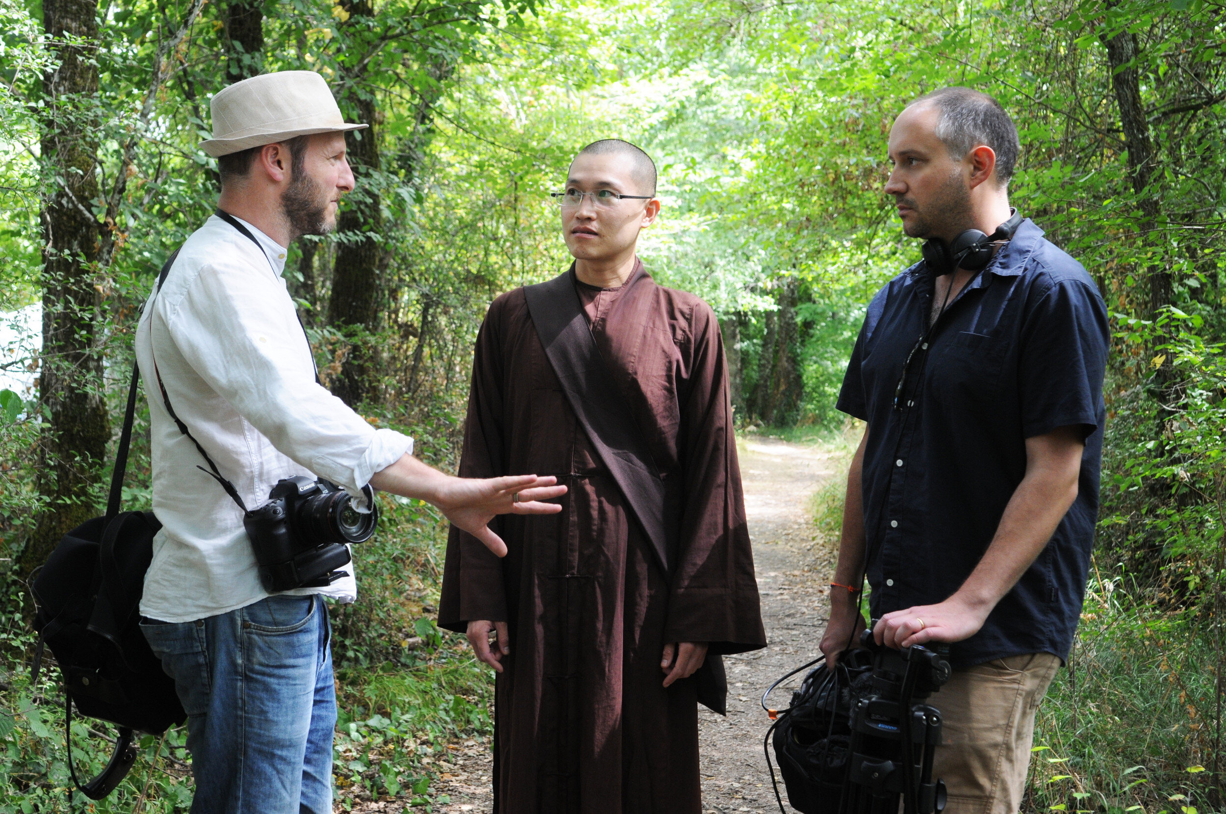
[[[940,711],[926,704],[950,677],[949,649],[913,646],[891,650],[873,641],[843,652],[834,669],[818,658],[763,694],[763,709],[775,718],[763,750],[775,756],[788,802],[803,814],[938,814],[945,808],[945,785],[932,776],[940,745]],[[766,696],[783,680],[819,664],[792,693],[782,711]],[[775,799],[783,812],[775,770]]]

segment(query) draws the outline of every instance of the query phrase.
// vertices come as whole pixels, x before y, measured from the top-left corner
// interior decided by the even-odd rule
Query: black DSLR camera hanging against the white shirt
[[[335,483],[300,474],[278,481],[268,501],[243,519],[264,590],[324,587],[345,576],[340,569],[352,559],[348,544],[370,539],[379,522],[374,489],[364,485],[362,494],[369,512],[358,511]]]

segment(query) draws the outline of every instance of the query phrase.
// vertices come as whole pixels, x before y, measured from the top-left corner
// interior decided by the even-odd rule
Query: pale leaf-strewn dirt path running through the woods
[[[818,655],[826,620],[826,585],[834,571],[831,547],[814,546],[817,531],[809,504],[810,495],[835,474],[831,455],[820,445],[788,444],[753,435],[741,444],[739,451],[758,590],[770,646],[725,657],[727,717],[705,707],[699,710],[702,810],[707,814],[765,813],[777,808],[763,755],[763,736],[770,720],[759,700],[771,682]],[[803,673],[775,690],[774,706],[787,706],[791,688]],[[450,803],[439,810],[489,812],[492,761],[488,745],[470,742],[455,749],[449,763],[446,775],[435,788],[449,794]],[[782,783],[780,793],[783,793]],[[786,794],[783,798],[786,801]],[[363,807],[363,810],[374,809]]]

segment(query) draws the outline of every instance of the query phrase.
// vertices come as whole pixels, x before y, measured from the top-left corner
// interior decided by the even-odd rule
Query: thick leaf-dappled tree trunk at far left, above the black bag
[[[39,494],[48,500],[18,563],[28,574],[64,532],[97,512],[91,490],[110,440],[97,344],[101,286],[94,288],[99,227],[91,207],[97,129],[85,119],[98,92],[93,0],[44,0],[43,28],[60,65],[43,76],[43,163],[54,191],[43,200],[43,349],[39,398],[50,413],[43,438]],[[66,44],[71,36],[75,44]]]

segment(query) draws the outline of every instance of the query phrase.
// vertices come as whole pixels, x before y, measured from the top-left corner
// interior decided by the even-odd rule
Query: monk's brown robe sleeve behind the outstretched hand
[[[477,335],[472,386],[465,420],[460,477],[493,478],[506,474],[503,446],[501,298],[490,305]],[[501,536],[501,517],[490,521]],[[443,565],[439,626],[465,633],[468,623],[506,622],[503,561],[472,534],[451,526]]]

